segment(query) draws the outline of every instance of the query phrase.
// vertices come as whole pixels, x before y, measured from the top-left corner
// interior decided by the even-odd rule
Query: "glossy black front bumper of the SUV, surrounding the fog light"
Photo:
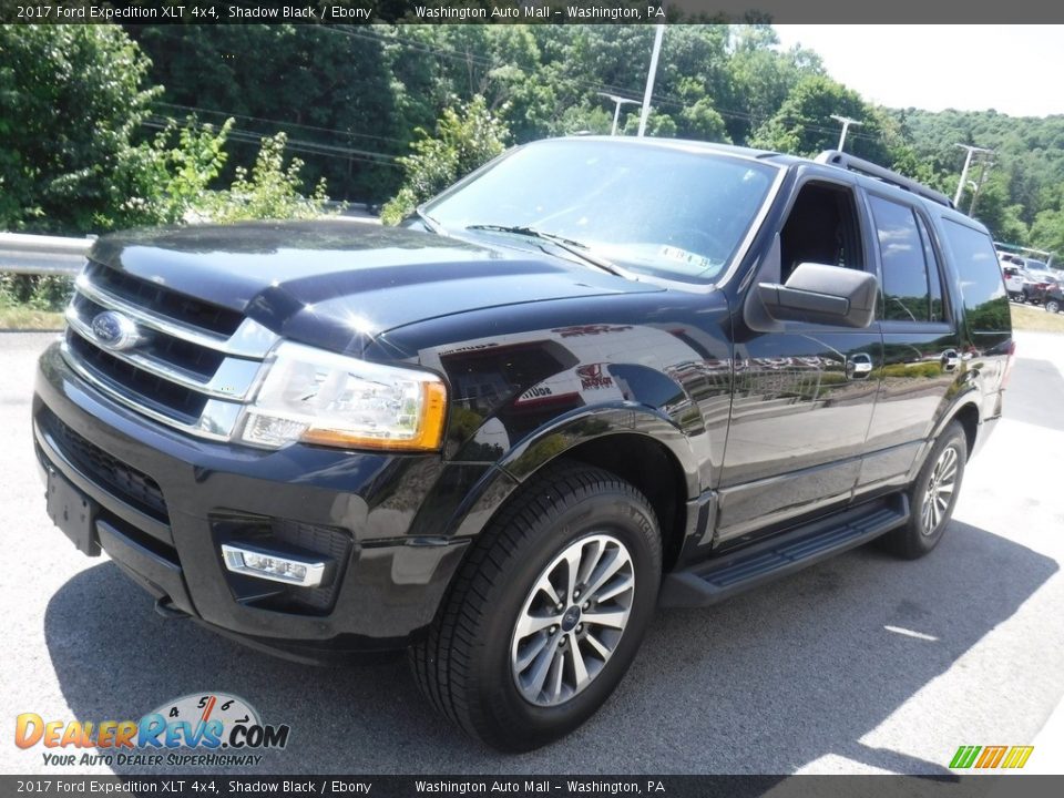
[[[196,440],[94,391],[58,345],[40,359],[33,432],[45,473],[99,505],[100,545],[161,605],[315,662],[401,648],[432,622],[468,542],[446,521],[487,470],[434,454]],[[311,595],[233,574],[219,546],[245,533],[328,551],[335,583]]]

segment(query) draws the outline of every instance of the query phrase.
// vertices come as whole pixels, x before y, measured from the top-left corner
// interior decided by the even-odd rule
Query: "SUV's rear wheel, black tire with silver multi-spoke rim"
[[[956,507],[966,460],[964,428],[951,421],[909,489],[909,521],[882,536],[883,548],[906,560],[915,560],[939,544]]]

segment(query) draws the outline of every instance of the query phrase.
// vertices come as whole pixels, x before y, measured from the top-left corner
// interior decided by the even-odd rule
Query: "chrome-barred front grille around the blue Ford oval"
[[[93,331],[114,311],[136,344],[116,349]],[[101,392],[203,438],[228,439],[277,336],[239,313],[89,262],[66,309],[63,355]]]

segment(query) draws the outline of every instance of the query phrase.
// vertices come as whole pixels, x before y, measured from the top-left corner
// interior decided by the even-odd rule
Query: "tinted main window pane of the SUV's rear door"
[[[870,197],[883,264],[883,318],[931,320],[924,245],[912,208]]]

